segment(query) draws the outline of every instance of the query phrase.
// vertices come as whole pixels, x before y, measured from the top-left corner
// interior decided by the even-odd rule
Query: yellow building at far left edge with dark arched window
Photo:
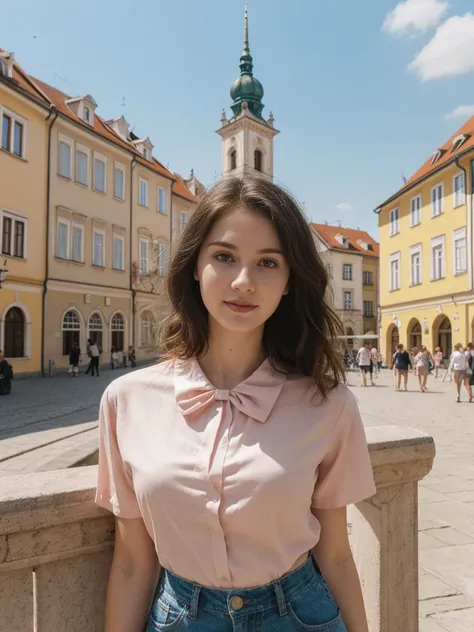
[[[50,103],[0,49],[0,348],[15,374],[39,373]]]

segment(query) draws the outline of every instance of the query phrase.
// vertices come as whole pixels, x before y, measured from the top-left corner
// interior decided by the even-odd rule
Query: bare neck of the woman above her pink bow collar
[[[263,328],[229,332],[210,323],[209,346],[199,364],[216,388],[232,389],[247,379],[265,360]]]

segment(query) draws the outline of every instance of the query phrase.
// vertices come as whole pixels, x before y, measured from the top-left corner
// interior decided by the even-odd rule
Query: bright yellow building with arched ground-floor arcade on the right
[[[380,208],[381,342],[440,346],[473,336],[474,117]]]

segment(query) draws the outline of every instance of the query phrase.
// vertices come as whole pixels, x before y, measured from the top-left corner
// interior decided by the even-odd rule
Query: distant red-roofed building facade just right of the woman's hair
[[[330,300],[349,346],[363,334],[377,335],[378,243],[365,231],[311,224],[316,248],[331,279]]]

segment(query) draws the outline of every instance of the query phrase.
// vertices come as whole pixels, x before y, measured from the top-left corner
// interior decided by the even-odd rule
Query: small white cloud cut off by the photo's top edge
[[[448,7],[444,0],[405,0],[387,14],[382,30],[392,35],[423,33],[440,23]]]

